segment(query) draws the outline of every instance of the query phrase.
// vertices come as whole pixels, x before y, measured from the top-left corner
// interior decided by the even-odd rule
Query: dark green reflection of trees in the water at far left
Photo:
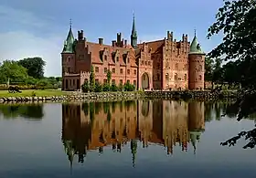
[[[26,120],[42,120],[44,117],[42,104],[2,104],[0,105],[0,116],[5,120],[22,117]]]

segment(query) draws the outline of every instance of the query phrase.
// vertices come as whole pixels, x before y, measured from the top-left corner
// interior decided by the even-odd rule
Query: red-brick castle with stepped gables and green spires
[[[131,83],[136,89],[204,89],[205,53],[195,33],[190,44],[187,35],[176,41],[173,32],[157,41],[137,43],[133,16],[131,44],[117,34],[112,45],[87,41],[83,30],[73,37],[71,25],[62,57],[62,90],[78,90],[89,80],[94,68],[95,82],[107,82],[112,72],[112,84]]]

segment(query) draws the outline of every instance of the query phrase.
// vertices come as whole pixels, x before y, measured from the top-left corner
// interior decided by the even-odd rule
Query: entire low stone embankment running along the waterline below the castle
[[[47,102],[47,101],[73,101],[94,100],[112,101],[124,99],[237,99],[236,91],[223,91],[211,93],[210,91],[131,91],[131,92],[101,92],[101,93],[77,93],[67,96],[51,97],[4,97],[0,103],[6,102]]]

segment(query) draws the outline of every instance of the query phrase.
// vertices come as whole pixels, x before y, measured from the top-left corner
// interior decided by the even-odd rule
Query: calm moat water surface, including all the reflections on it
[[[228,103],[136,100],[0,105],[0,177],[255,177],[256,152],[221,141],[254,119]]]

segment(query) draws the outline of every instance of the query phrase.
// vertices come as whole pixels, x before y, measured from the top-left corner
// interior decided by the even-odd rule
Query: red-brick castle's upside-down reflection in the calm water
[[[133,163],[137,141],[163,145],[167,154],[178,144],[196,152],[205,130],[204,102],[135,100],[86,102],[62,105],[62,141],[69,161],[77,154],[79,162],[90,150],[103,152],[104,146],[122,152],[130,144]],[[190,144],[189,144],[190,143]],[[190,148],[189,148],[190,149]]]

